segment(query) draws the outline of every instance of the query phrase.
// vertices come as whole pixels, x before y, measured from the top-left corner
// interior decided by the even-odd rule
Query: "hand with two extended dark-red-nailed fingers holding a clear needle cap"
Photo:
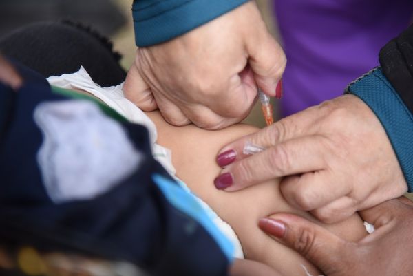
[[[246,156],[246,142],[264,147]],[[359,98],[345,95],[294,114],[222,149],[215,186],[237,191],[272,178],[289,204],[327,223],[385,200],[407,183],[383,126]],[[276,202],[274,203],[276,204]]]

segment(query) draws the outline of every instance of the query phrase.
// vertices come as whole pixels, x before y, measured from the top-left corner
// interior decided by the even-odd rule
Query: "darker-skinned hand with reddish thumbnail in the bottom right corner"
[[[374,224],[374,233],[346,242],[296,215],[276,214],[260,228],[318,266],[326,276],[412,275],[413,206],[410,200],[390,200],[360,212]]]

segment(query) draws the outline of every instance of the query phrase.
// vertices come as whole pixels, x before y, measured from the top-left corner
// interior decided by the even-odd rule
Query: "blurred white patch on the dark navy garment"
[[[133,173],[143,160],[125,130],[94,103],[40,103],[34,121],[44,137],[37,160],[47,194],[56,203],[95,198]]]

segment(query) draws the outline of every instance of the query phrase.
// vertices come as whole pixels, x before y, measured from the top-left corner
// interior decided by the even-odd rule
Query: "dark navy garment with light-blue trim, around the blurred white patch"
[[[41,173],[39,149],[46,141],[34,111],[43,103],[74,99],[52,92],[39,74],[23,67],[18,71],[24,78],[19,91],[0,83],[0,240],[122,259],[150,275],[227,274],[232,244],[152,158],[147,129],[113,111],[103,109],[103,114],[115,118],[104,115],[123,129],[143,161],[92,198],[53,200]],[[50,155],[61,146],[52,145]],[[73,169],[67,167],[76,173]]]

